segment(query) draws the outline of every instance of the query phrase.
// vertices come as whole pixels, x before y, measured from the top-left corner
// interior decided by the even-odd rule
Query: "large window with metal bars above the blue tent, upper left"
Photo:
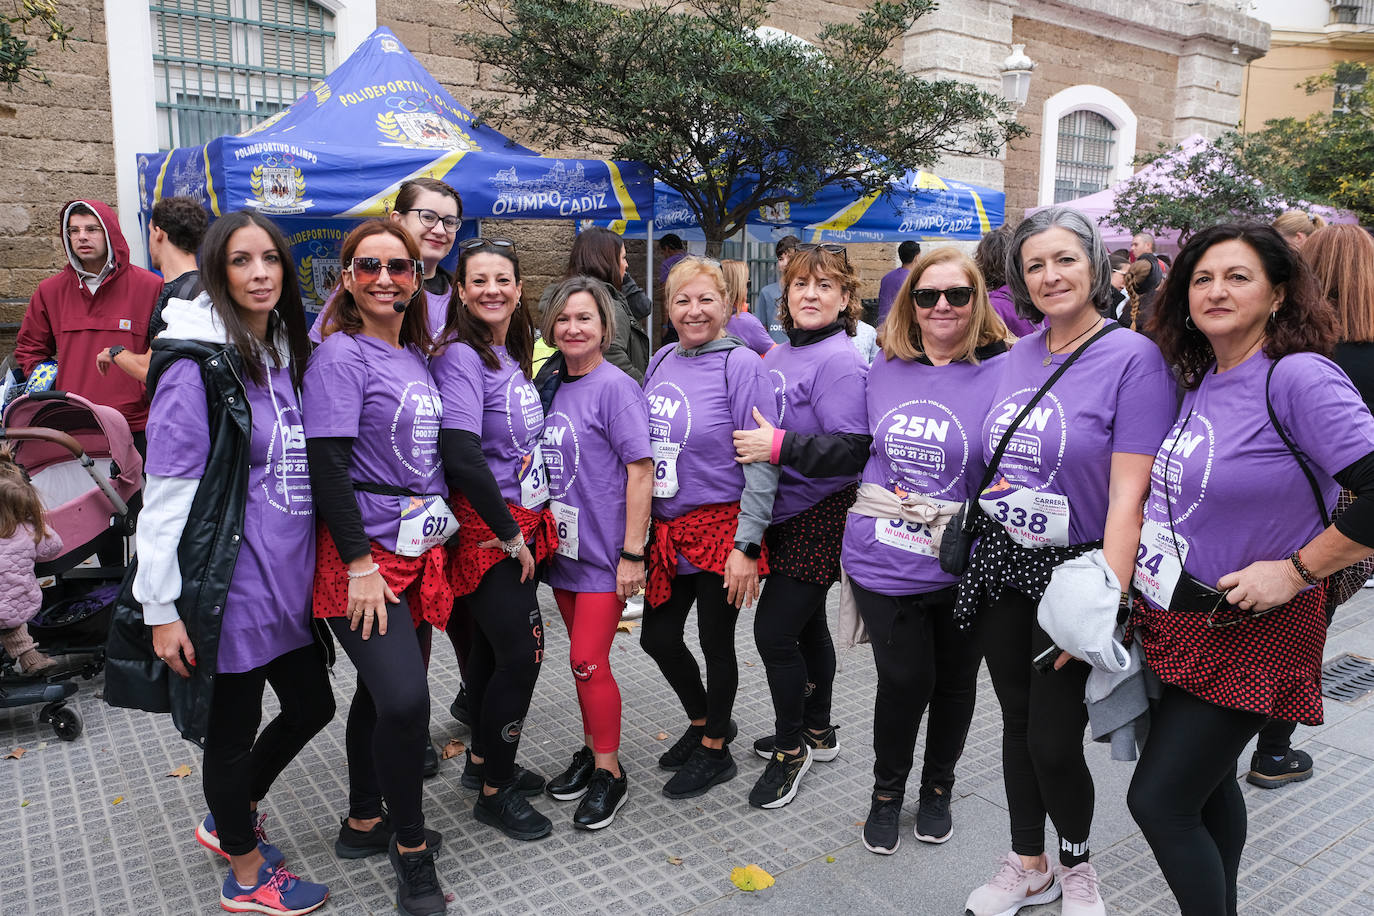
[[[164,148],[242,133],[334,63],[334,16],[311,0],[154,0],[148,11]]]

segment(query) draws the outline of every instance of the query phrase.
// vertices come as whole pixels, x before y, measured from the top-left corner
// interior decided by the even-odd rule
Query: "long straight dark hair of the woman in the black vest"
[[[290,353],[276,352],[271,321],[268,321],[267,341],[260,343],[243,319],[239,317],[239,306],[229,295],[229,238],[250,225],[267,232],[278,257],[282,258],[282,295],[272,310],[286,328],[286,345]],[[267,383],[267,367],[262,363],[262,346],[267,346],[273,358],[287,357],[291,367],[291,382],[300,387],[301,378],[305,375],[305,361],[311,356],[311,339],[306,336],[305,306],[301,305],[301,282],[295,273],[295,261],[291,260],[291,246],[286,243],[282,229],[257,210],[225,213],[214,221],[201,243],[201,283],[210,294],[210,306],[220,319],[220,324],[224,325],[229,343],[238,350],[249,379],[254,385]]]

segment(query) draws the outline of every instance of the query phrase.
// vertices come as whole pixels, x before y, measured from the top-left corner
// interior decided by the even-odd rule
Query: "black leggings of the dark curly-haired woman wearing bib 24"
[[[1264,715],[1221,709],[1176,687],[1150,717],[1127,803],[1183,916],[1235,916],[1245,797],[1235,761]]]

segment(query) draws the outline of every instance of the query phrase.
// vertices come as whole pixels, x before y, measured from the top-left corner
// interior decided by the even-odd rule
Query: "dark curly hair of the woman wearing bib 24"
[[[1311,268],[1283,236],[1259,222],[1226,222],[1202,229],[1183,246],[1158,297],[1150,332],[1164,358],[1179,368],[1179,380],[1195,389],[1216,360],[1212,345],[1189,327],[1189,287],[1193,271],[1208,249],[1221,242],[1243,242],[1260,258],[1264,277],[1283,287],[1283,301],[1264,332],[1264,356],[1276,360],[1289,353],[1330,356],[1336,346],[1336,310],[1320,294]]]

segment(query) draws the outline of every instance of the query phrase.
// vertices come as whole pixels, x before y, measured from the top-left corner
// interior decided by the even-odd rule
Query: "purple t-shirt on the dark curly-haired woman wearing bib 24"
[[[1283,559],[1322,530],[1312,488],[1264,404],[1271,364],[1256,353],[1220,375],[1209,371],[1184,394],[1182,415],[1160,446],[1136,560],[1136,578],[1147,580],[1142,592],[1157,606],[1172,591],[1178,553],[1194,578],[1216,585],[1256,560]],[[1279,360],[1270,397],[1330,509],[1340,490],[1331,475],[1374,452],[1374,417],[1345,374],[1315,353]],[[1178,552],[1169,551],[1171,511]],[[1161,580],[1168,582],[1162,591],[1156,585]]]

